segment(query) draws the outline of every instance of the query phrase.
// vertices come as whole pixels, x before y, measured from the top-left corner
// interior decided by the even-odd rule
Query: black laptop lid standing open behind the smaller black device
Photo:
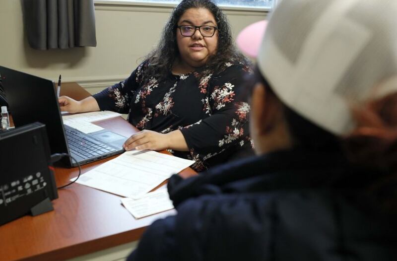
[[[54,82],[2,66],[0,75],[15,127],[43,123],[51,154],[68,153]]]

